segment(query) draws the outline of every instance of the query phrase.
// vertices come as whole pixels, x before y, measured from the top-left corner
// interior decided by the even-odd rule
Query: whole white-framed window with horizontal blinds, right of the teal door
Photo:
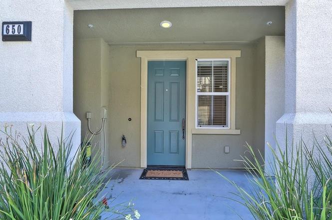
[[[230,128],[230,62],[196,61],[196,129]]]

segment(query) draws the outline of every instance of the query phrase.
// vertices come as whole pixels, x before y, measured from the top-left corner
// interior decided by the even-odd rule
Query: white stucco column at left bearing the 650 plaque
[[[64,0],[1,0],[0,21],[32,21],[31,41],[0,41],[0,126],[26,134],[26,125],[46,125],[51,140],[75,132],[72,112],[73,10]]]

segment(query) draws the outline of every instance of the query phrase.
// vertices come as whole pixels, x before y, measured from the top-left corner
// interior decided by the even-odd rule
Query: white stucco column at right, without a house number
[[[277,139],[285,147],[314,135],[324,143],[332,135],[332,1],[290,0],[286,5],[285,114],[277,121]]]

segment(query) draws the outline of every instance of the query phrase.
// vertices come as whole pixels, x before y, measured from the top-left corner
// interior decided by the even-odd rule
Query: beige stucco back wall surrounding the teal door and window
[[[193,135],[193,168],[242,167],[238,162],[245,151],[245,142],[255,145],[255,123],[264,120],[264,112],[255,114],[255,59],[256,44],[239,45],[111,45],[109,91],[109,158],[112,162],[125,160],[120,166],[140,166],[140,59],[136,50],[241,50],[237,59],[236,128],[241,135]],[[264,99],[263,99],[264,105]],[[128,121],[128,118],[132,121]],[[260,117],[260,118],[258,118]],[[264,132],[264,131],[263,131]],[[121,146],[121,136],[127,137],[126,147]],[[224,153],[224,146],[231,153]],[[264,145],[259,147],[264,152]]]

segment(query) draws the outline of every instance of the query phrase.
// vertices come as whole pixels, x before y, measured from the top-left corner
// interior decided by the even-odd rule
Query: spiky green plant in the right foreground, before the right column
[[[330,140],[330,146],[331,143]],[[286,141],[284,150],[278,144],[276,151],[270,146],[274,161],[269,165],[274,172],[266,176],[263,156],[255,153],[250,145],[247,147],[249,155],[240,161],[250,174],[251,190],[245,190],[218,174],[237,189],[236,198],[232,200],[246,206],[255,220],[332,220],[332,164],[324,148],[315,145],[309,150],[303,141],[297,146],[293,143],[288,146]],[[318,152],[315,157],[313,151]],[[314,186],[308,184],[312,171],[316,176],[321,175],[319,184]]]

